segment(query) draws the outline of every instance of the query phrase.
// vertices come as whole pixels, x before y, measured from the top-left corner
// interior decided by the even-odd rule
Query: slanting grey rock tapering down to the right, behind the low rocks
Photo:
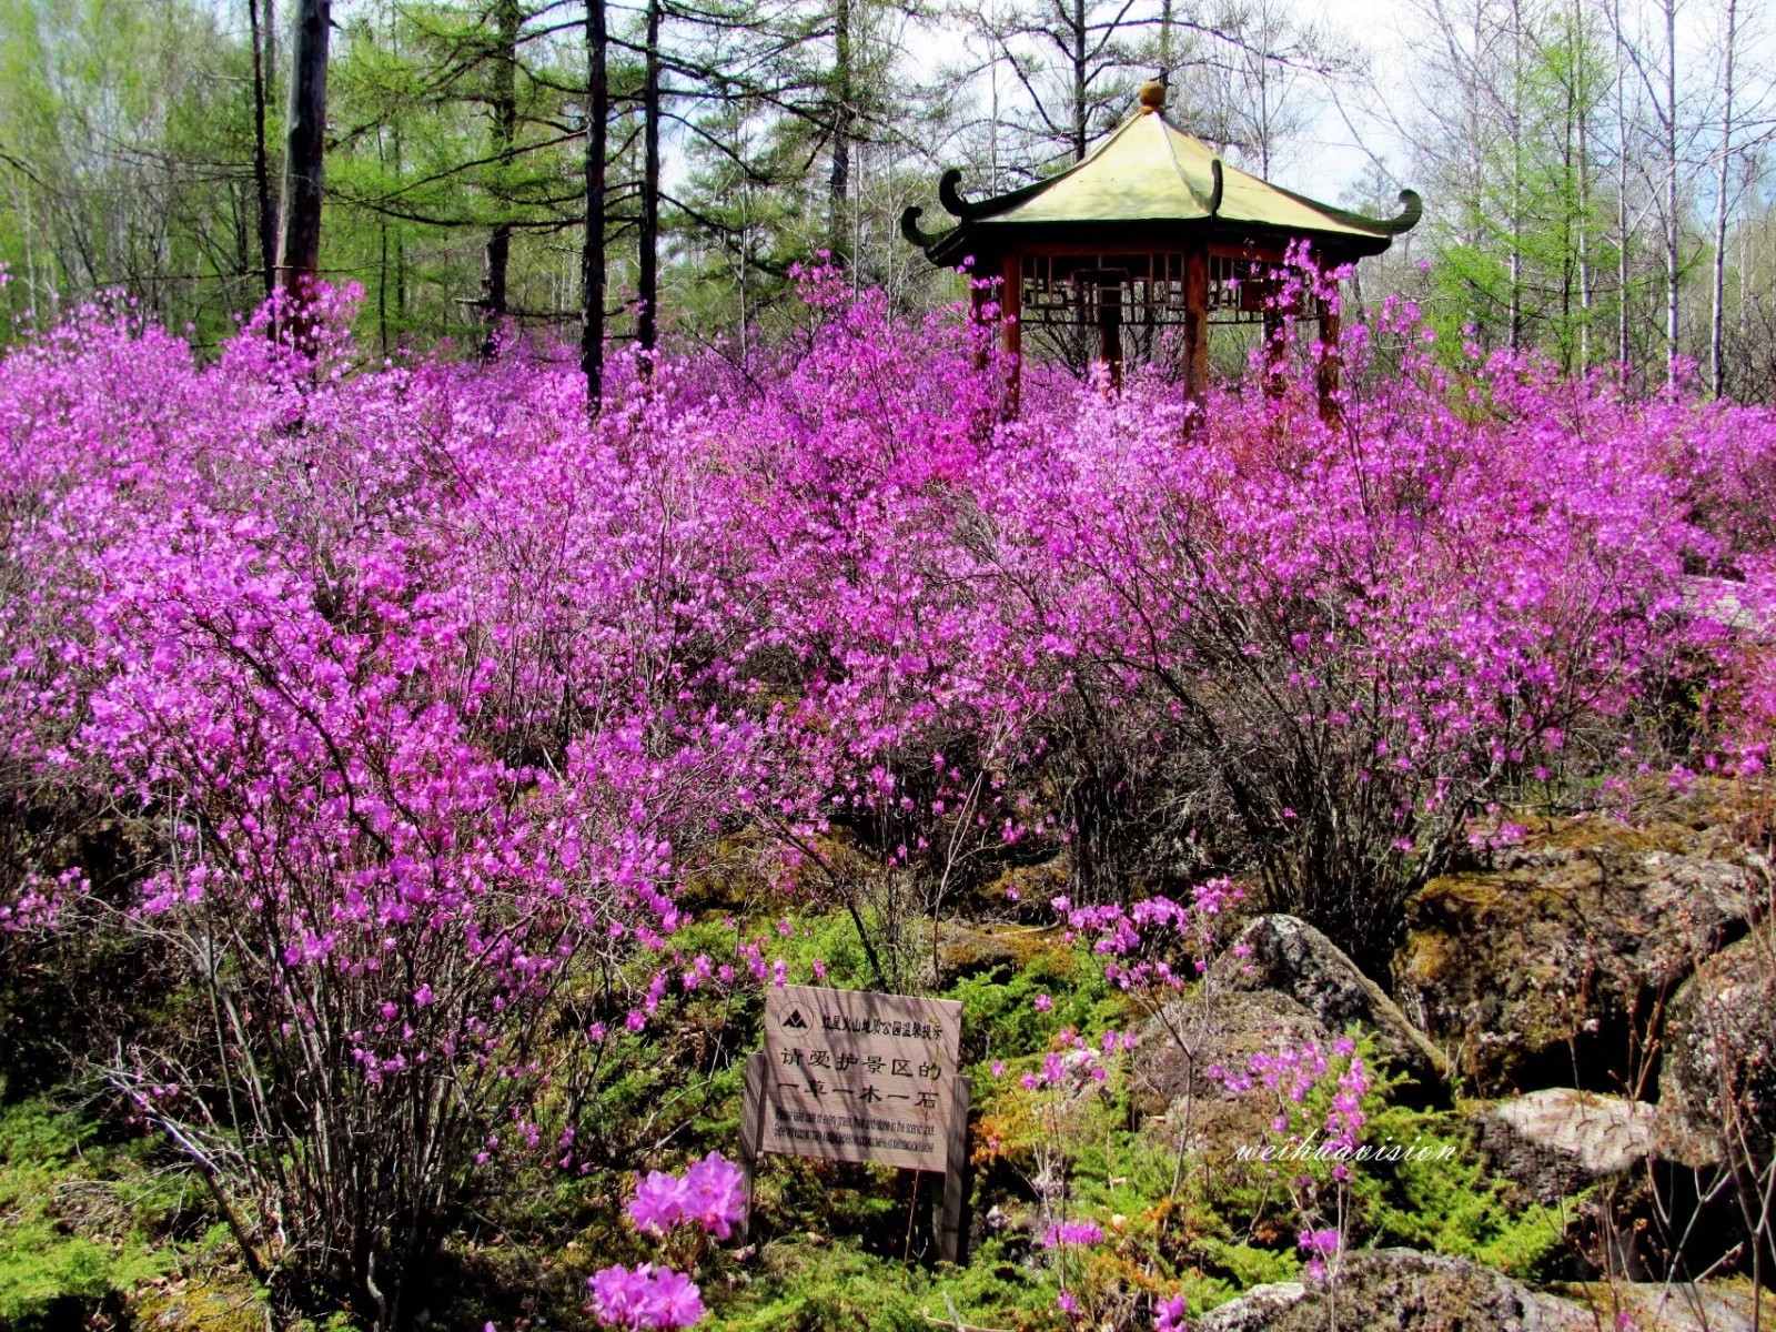
[[[1213,993],[1275,991],[1328,1032],[1375,1034],[1376,1053],[1421,1089],[1440,1092],[1447,1060],[1387,993],[1325,934],[1284,915],[1259,916],[1209,968]]]

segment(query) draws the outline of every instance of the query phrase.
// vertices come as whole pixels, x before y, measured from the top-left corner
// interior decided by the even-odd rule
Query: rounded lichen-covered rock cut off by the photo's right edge
[[[1666,1011],[1659,1103],[1742,1160],[1776,1144],[1776,943],[1762,931],[1705,961]]]

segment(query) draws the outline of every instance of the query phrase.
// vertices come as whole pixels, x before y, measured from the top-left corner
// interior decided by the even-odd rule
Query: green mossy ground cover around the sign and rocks
[[[792,980],[868,986],[870,973],[844,913],[776,920],[773,955]],[[693,927],[718,936],[716,922]],[[732,941],[732,931],[726,934]],[[1094,959],[1058,931],[1014,924],[947,929],[938,955],[964,1005],[964,1064],[975,1078],[977,1247],[948,1268],[929,1256],[934,1181],[874,1167],[765,1158],[755,1245],[716,1250],[700,1280],[707,1327],[732,1332],[1060,1328],[1055,1256],[1032,1234],[1032,1135],[1018,1074],[1035,1067],[1062,1028],[1128,1030],[1140,1012],[1108,987]],[[929,936],[922,945],[929,950]],[[1050,996],[1039,1009],[1037,996]],[[749,1030],[749,1028],[741,1028]],[[1138,1057],[1138,1055],[1137,1055]],[[1003,1071],[993,1074],[1002,1060]],[[613,1106],[654,1094],[645,1071],[613,1089]],[[739,1069],[698,1089],[664,1165],[710,1147],[733,1151]],[[1105,1224],[1106,1243],[1067,1259],[1069,1284],[1124,1314],[1156,1295],[1185,1291],[1193,1311],[1293,1277],[1296,1222],[1273,1181],[1179,1158],[1158,1119],[1142,1119],[1112,1082],[1085,1105],[1069,1144],[1069,1193],[1080,1215]],[[1487,1174],[1456,1112],[1387,1108],[1373,1131],[1401,1142],[1447,1142],[1453,1160],[1394,1165],[1360,1176],[1355,1234],[1476,1257],[1524,1277],[1542,1275],[1565,1243],[1559,1217],[1520,1206]],[[465,1215],[446,1243],[428,1323],[449,1332],[584,1328],[586,1277],[650,1254],[622,1218],[627,1174],[559,1181],[513,1179]],[[279,1320],[282,1321],[282,1320]],[[325,1316],[316,1320],[325,1323]],[[332,1320],[345,1327],[343,1316]],[[231,1261],[201,1181],[142,1138],[101,1128],[52,1098],[0,1117],[0,1328],[201,1328],[261,1332],[265,1302]]]

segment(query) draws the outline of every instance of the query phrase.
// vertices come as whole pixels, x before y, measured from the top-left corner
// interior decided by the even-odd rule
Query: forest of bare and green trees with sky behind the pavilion
[[[295,9],[0,0],[0,339],[105,289],[201,346],[258,305]],[[1074,160],[1160,76],[1170,117],[1247,170],[1376,215],[1426,197],[1359,305],[1398,291],[1487,350],[1641,382],[1694,364],[1716,394],[1776,398],[1760,0],[1401,0],[1373,27],[1286,0],[320,9],[320,270],[364,288],[380,353],[574,343],[593,291],[616,341],[650,345],[652,311],[742,361],[822,250],[902,311],[943,304],[959,279],[900,211],[948,165],[986,194]]]

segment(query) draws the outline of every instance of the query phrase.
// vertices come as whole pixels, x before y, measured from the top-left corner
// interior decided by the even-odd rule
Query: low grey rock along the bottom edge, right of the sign
[[[1192,1323],[1193,1332],[1597,1332],[1588,1309],[1442,1254],[1348,1254],[1336,1286],[1257,1286]]]

